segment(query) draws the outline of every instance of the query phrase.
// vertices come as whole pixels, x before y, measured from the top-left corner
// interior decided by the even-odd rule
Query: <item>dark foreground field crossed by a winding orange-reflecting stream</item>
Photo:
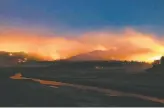
[[[138,65],[0,68],[0,106],[164,106],[163,77]]]

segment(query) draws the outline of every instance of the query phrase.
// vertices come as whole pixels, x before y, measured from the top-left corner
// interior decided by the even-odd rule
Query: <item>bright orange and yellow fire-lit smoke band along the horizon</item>
[[[94,50],[108,51],[101,55],[103,60],[114,57],[117,60],[151,62],[164,54],[164,40],[153,34],[144,34],[134,29],[122,32],[85,32],[78,36],[54,36],[21,30],[0,32],[0,50],[25,52],[39,55],[44,60],[66,59]]]

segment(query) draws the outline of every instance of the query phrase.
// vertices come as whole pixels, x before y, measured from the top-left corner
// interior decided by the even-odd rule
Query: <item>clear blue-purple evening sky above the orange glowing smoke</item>
[[[1,0],[1,23],[60,29],[164,27],[163,0]],[[161,31],[160,31],[161,30]]]

